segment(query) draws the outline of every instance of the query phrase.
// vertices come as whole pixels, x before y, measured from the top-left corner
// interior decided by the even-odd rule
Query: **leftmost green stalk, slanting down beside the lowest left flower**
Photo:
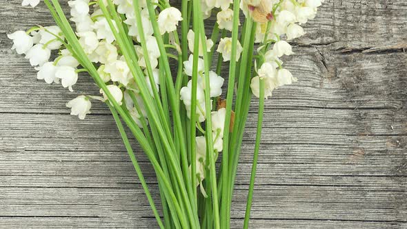
[[[117,115],[117,112],[116,112],[115,108],[113,108],[112,105],[110,105],[109,102],[107,102],[106,104],[108,104],[108,107],[110,108],[110,112],[112,112],[113,118],[115,119],[117,129],[119,129],[121,139],[123,139],[123,143],[124,143],[124,146],[126,146],[128,156],[130,157],[130,159],[131,159],[131,161],[133,163],[133,166],[135,167],[135,170],[137,172],[137,176],[139,177],[139,180],[141,182],[141,186],[143,186],[143,190],[146,193],[148,203],[150,203],[150,206],[151,206],[152,212],[154,213],[155,219],[157,219],[157,223],[158,223],[159,227],[164,228],[163,223],[161,221],[161,218],[160,218],[160,216],[159,216],[159,214],[157,212],[157,208],[155,208],[155,203],[152,200],[150,190],[148,190],[148,186],[147,186],[146,180],[144,179],[143,172],[141,172],[141,169],[140,169],[139,163],[137,162],[137,158],[135,156],[135,153],[133,152],[132,147],[130,146],[130,141],[128,141],[126,132],[124,131],[123,126],[121,125],[119,115]]]

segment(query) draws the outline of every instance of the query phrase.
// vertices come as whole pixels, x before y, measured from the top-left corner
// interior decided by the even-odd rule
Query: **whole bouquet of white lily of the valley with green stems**
[[[301,25],[315,17],[321,1],[73,0],[67,16],[58,0],[43,0],[56,26],[34,26],[8,37],[12,49],[38,71],[37,79],[71,92],[79,72],[95,80],[100,95],[83,94],[67,106],[84,119],[91,101],[106,103],[160,228],[230,228],[254,94],[259,115],[248,228],[264,99],[297,80],[280,59],[292,54],[284,39],[304,34]],[[53,61],[51,54],[57,54]],[[228,76],[221,75],[225,65]],[[133,138],[155,170],[160,200],[150,195],[130,145]]]

